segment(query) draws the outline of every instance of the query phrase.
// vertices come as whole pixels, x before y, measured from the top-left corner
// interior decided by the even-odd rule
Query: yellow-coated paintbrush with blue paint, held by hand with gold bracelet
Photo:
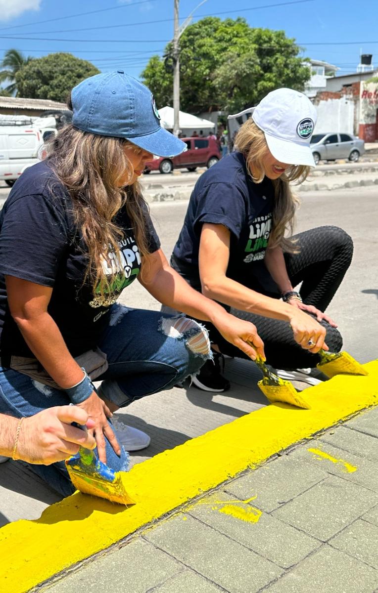
[[[77,425],[78,426],[78,425]],[[87,431],[86,426],[79,426]],[[65,461],[66,468],[77,490],[100,496],[111,502],[118,502],[121,505],[132,505],[135,501],[126,492],[123,484],[124,471],[114,471],[97,459],[91,449],[80,447],[76,455],[72,455]]]

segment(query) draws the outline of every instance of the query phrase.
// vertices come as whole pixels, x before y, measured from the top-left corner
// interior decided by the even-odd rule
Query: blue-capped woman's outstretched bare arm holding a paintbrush
[[[164,305],[197,319],[211,321],[228,342],[243,350],[247,356],[255,359],[258,353],[265,359],[263,343],[257,334],[256,327],[248,321],[230,315],[221,305],[191,288],[170,267],[160,249],[149,256],[145,270],[138,279],[142,286]]]

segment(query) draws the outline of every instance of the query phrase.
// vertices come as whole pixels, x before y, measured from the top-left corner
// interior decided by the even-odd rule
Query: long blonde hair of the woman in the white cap
[[[246,158],[247,170],[255,183],[261,183],[265,173],[263,160],[269,152],[263,131],[252,118],[240,127],[235,138],[235,147],[243,152]],[[253,175],[252,171],[255,171]],[[296,208],[299,204],[297,197],[291,192],[290,181],[302,183],[310,172],[310,167],[293,165],[288,167],[278,179],[272,180],[274,185],[274,208],[272,232],[269,237],[269,247],[281,246],[288,253],[297,253],[296,241],[293,234]],[[290,237],[285,237],[288,232]]]

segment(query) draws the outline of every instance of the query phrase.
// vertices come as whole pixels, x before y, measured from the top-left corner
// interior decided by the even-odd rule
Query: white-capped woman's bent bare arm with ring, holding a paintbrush
[[[230,231],[223,225],[204,224],[199,245],[199,274],[202,292],[207,297],[243,311],[288,321],[296,342],[313,353],[318,352],[321,347],[328,348],[324,342],[325,329],[312,317],[297,307],[292,307],[279,299],[266,297],[240,282],[227,278],[229,258]],[[316,346],[310,348],[309,340]]]

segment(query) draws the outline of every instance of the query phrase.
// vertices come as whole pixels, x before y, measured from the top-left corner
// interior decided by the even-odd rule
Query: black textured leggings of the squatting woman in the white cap
[[[307,305],[315,305],[325,311],[350,266],[353,243],[351,237],[338,227],[319,227],[301,232],[294,238],[300,247],[298,254],[285,254],[288,276],[293,286],[301,282],[300,295]],[[279,298],[279,292],[261,290],[269,297]],[[295,369],[316,366],[319,356],[304,350],[293,337],[287,321],[261,317],[246,311],[231,308],[231,313],[241,319],[252,321],[265,344],[268,364],[275,368]],[[217,329],[205,323],[211,342],[229,356],[247,358],[236,346],[227,342]],[[326,343],[331,352],[339,352],[342,337],[339,331],[325,321]]]

